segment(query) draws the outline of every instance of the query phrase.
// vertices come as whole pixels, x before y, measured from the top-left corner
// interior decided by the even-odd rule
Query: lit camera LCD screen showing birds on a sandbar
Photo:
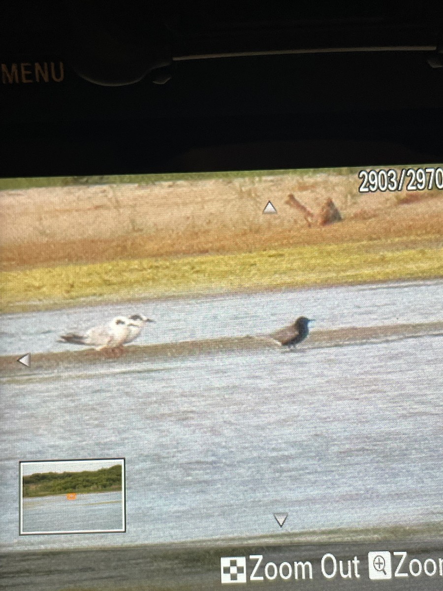
[[[0,203],[5,589],[442,589],[442,164]]]

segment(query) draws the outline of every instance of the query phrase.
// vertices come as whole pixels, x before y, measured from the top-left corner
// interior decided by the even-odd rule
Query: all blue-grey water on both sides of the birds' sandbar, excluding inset
[[[443,319],[443,281],[137,303],[141,343]],[[128,313],[4,317],[2,353],[66,350],[57,334]],[[443,337],[130,359],[4,384],[6,547],[135,544],[443,521]],[[32,379],[31,379],[32,378]],[[19,538],[18,460],[126,458],[127,532]]]

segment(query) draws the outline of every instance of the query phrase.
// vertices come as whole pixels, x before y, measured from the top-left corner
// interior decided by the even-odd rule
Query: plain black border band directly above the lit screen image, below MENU
[[[442,137],[441,109],[31,122],[2,127],[0,177],[439,163]]]

